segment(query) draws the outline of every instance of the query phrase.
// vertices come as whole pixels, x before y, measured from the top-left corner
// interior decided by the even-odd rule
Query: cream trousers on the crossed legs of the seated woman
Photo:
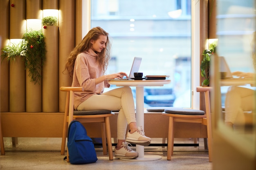
[[[119,110],[117,117],[117,139],[126,139],[127,124],[136,122],[135,106],[130,87],[115,88],[101,95],[92,95],[77,110]]]

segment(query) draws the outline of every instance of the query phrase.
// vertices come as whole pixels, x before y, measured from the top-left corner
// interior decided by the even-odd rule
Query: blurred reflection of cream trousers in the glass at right
[[[225,100],[225,122],[245,124],[243,111],[254,110],[254,93],[249,88],[230,86]]]

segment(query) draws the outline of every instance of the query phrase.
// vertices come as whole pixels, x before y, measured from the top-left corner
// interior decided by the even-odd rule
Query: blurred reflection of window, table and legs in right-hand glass
[[[217,53],[225,58],[232,72],[231,79],[221,82],[223,122],[236,132],[251,132],[255,125],[256,90],[254,1],[220,0],[219,4]]]

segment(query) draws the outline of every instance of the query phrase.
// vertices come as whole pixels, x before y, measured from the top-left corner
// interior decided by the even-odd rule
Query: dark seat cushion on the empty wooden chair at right
[[[178,115],[204,115],[203,110],[187,109],[187,108],[168,108],[164,110],[165,113]]]

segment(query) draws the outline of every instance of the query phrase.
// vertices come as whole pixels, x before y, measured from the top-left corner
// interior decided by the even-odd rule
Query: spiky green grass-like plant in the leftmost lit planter
[[[2,48],[2,61],[4,60],[4,58],[7,58],[7,61],[9,62],[9,60],[13,60],[15,61],[16,56],[25,56],[25,49],[26,49],[26,42],[25,41],[21,41],[18,44],[15,43],[10,43],[7,46],[4,46]]]

